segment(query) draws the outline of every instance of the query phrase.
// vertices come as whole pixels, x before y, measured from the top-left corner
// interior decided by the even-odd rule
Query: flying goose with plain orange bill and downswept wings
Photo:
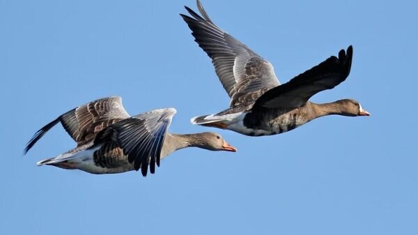
[[[155,165],[173,151],[199,147],[210,151],[237,151],[221,135],[202,132],[179,135],[167,132],[176,109],[155,109],[130,116],[122,98],[94,100],[62,114],[40,128],[26,145],[26,154],[45,133],[61,122],[77,147],[37,165],[80,169],[91,174],[113,174],[141,169],[154,174]]]

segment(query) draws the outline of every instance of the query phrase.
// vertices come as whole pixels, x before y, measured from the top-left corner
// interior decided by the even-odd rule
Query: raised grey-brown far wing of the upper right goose
[[[231,98],[230,107],[253,103],[280,84],[270,62],[214,24],[199,0],[197,7],[202,16],[187,6],[192,17],[180,15],[192,29],[196,43],[212,59],[216,74]]]

